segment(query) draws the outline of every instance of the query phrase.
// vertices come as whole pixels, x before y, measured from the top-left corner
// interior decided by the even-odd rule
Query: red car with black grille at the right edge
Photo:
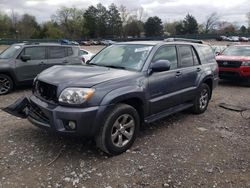
[[[216,56],[221,79],[244,79],[250,82],[250,45],[235,45]]]

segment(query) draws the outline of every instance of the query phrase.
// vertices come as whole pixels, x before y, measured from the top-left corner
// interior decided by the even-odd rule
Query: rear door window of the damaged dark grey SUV
[[[191,46],[179,46],[180,53],[180,67],[193,66],[193,54]]]

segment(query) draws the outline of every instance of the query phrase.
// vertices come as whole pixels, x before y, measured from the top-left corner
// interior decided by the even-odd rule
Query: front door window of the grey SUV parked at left
[[[30,55],[31,60],[45,59],[45,47],[27,47],[24,49],[24,55]]]

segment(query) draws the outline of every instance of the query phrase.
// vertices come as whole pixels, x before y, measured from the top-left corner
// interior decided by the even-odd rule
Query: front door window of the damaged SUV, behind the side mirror
[[[170,69],[177,68],[177,55],[175,46],[163,46],[156,53],[153,62],[157,60],[168,60],[171,63]]]

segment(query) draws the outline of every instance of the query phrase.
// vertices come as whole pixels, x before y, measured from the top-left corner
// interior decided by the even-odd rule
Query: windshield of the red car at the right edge
[[[250,46],[230,46],[225,49],[223,55],[250,56]]]

